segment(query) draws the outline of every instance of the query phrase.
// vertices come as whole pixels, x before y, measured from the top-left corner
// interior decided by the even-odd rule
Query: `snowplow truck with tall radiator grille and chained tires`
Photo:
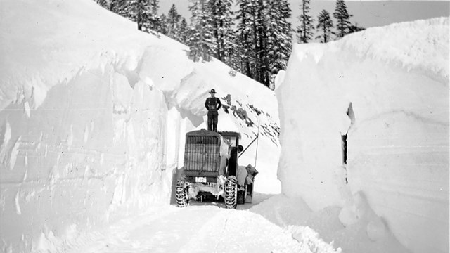
[[[224,198],[226,208],[252,202],[255,167],[238,166],[240,134],[201,129],[186,134],[184,170],[176,181],[176,206],[205,197]]]

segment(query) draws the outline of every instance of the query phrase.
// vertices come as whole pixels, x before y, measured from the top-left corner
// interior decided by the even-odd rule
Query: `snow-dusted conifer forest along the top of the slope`
[[[322,10],[316,18],[310,14],[310,0],[302,0],[295,7],[300,8],[297,27],[291,23],[288,0],[188,0],[188,18],[175,4],[168,13],[159,13],[160,0],[94,1],[136,22],[138,30],[186,44],[194,61],[217,58],[229,65],[230,74],[241,72],[271,89],[274,74],[286,68],[293,43],[326,43],[364,30],[350,22],[344,0],[336,0],[334,13]]]

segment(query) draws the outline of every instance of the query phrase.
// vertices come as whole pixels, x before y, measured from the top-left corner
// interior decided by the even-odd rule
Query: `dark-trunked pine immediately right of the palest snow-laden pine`
[[[232,4],[232,0],[210,0],[207,2],[207,11],[210,14],[208,22],[210,22],[214,34],[213,56],[225,63],[229,60],[229,51],[232,46]]]

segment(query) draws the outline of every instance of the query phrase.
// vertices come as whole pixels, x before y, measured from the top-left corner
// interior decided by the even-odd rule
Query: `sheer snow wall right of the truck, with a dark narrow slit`
[[[345,226],[367,202],[412,252],[449,252],[449,18],[295,45],[283,78],[283,193]]]

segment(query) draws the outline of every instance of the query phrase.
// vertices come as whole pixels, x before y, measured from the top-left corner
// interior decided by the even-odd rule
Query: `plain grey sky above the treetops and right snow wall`
[[[291,22],[293,22],[293,27],[296,27],[299,25],[297,16],[300,15],[301,0],[288,1],[290,8],[293,10]],[[188,11],[188,0],[160,0],[159,13],[167,15],[172,4],[175,4],[177,11],[184,18],[187,20],[191,18],[191,13]],[[450,15],[450,1],[345,1],[345,4],[349,14],[353,15],[350,22],[357,22],[362,27],[376,27],[394,22],[448,17]],[[311,15],[316,21],[317,15],[325,9],[333,16],[335,6],[333,0],[311,0]],[[316,25],[316,22],[314,22],[314,25]]]

